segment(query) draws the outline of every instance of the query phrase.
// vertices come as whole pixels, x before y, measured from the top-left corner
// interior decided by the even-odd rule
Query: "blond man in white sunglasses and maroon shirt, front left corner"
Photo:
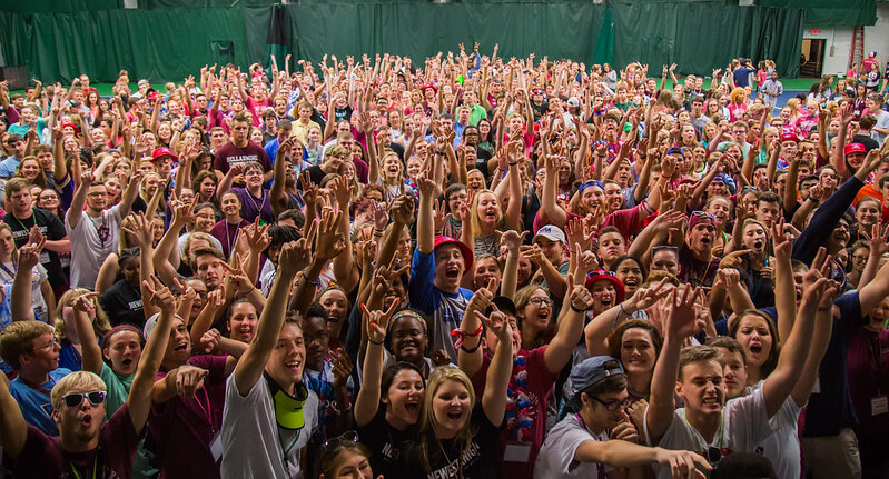
[[[132,477],[136,448],[151,410],[151,388],[176,307],[169,289],[157,280],[154,283],[144,282],[142,288],[146,301],[161,311],[157,333],[146,345],[127,402],[108,421],[103,421],[107,387],[92,372],[72,372],[52,388],[47,406],[59,428],[58,438],[29,426],[9,388],[0,386],[0,436],[16,477]],[[48,346],[58,353],[55,341]]]

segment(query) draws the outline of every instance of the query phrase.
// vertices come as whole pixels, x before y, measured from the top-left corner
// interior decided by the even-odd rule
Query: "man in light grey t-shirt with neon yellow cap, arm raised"
[[[314,253],[305,238],[281,248],[256,335],[226,381],[217,449],[223,456],[223,478],[304,477],[306,446],[318,426],[318,397],[302,382],[306,361],[302,317],[322,269],[346,250],[346,239],[337,231],[342,214],[323,216]],[[294,281],[296,312],[287,313]]]

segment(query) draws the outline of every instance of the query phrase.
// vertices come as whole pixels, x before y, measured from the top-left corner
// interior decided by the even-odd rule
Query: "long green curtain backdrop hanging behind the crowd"
[[[790,77],[799,67],[804,19],[803,10],[797,8],[703,1],[304,0],[265,7],[257,4],[266,0],[241,1],[245,6],[237,8],[4,11],[0,12],[0,48],[7,64],[23,64],[32,77],[63,82],[80,73],[97,82],[113,81],[120,69],[128,70],[134,81],[180,80],[207,62],[267,64],[269,54],[276,54],[283,66],[288,51],[312,61],[324,53],[345,58],[377,52],[418,60],[455,50],[461,42],[472,48],[476,41],[486,53],[500,43],[504,58],[534,52],[537,60],[549,56],[619,68],[640,61],[653,74],[672,62],[682,72],[709,73],[737,56],[770,58],[782,76]]]

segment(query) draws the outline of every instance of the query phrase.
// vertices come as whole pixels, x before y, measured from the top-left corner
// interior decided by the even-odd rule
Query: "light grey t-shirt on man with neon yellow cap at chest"
[[[303,406],[306,425],[296,431],[278,427],[275,405],[265,377],[241,397],[235,375],[226,380],[226,405],[223,410],[223,478],[302,479],[299,453],[318,426],[318,397],[308,391]],[[284,451],[287,452],[285,466]],[[286,467],[286,470],[285,470]]]

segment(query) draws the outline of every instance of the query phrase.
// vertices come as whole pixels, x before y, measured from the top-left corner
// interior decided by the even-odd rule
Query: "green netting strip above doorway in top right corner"
[[[761,7],[806,10],[806,23],[818,27],[852,27],[877,23],[877,0],[758,0]]]

